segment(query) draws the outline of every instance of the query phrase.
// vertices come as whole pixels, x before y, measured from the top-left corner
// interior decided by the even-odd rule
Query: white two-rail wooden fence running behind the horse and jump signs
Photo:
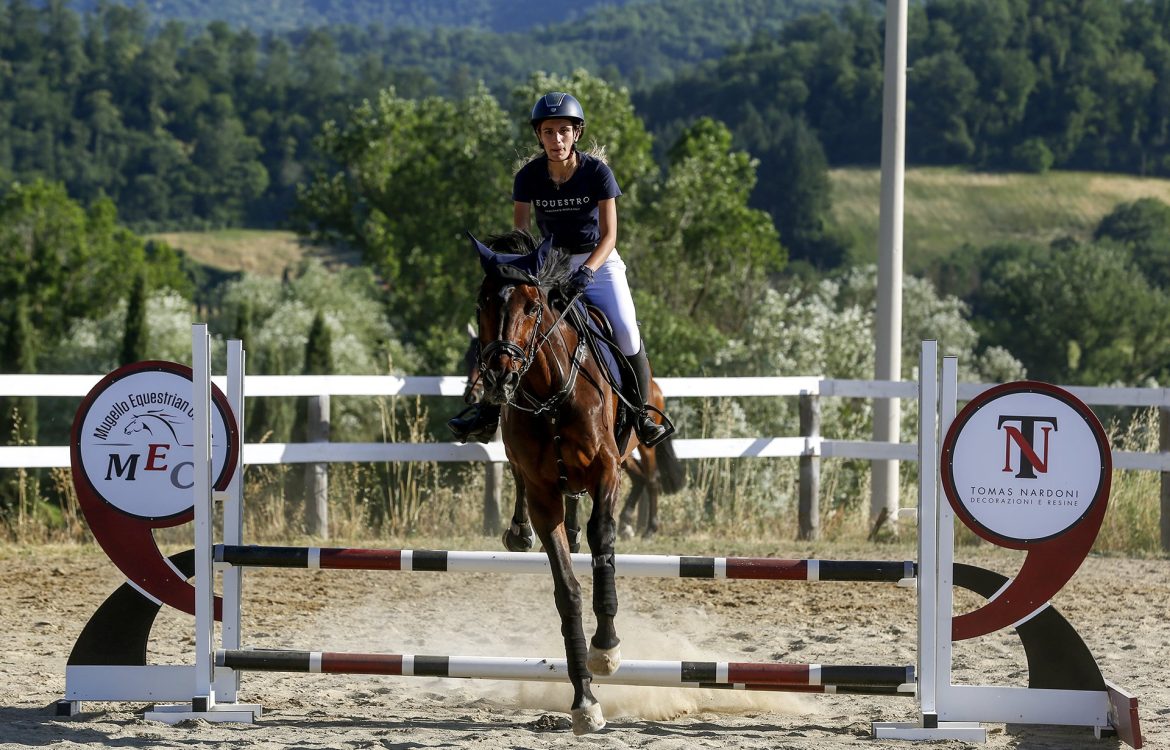
[[[0,397],[84,397],[103,376],[7,374],[0,376]],[[222,378],[213,378],[221,388]],[[787,436],[688,439],[674,441],[680,459],[701,457],[777,457],[799,456],[805,460],[861,459],[916,461],[915,443],[889,443],[866,440],[833,440],[819,434],[818,401],[820,398],[900,398],[916,399],[914,381],[834,380],[819,377],[789,378],[661,378],[659,384],[667,398],[751,398],[798,397],[806,434]],[[247,376],[245,391],[249,398],[330,395],[461,397],[461,377],[397,376]],[[961,384],[959,399],[969,400],[993,384]],[[1170,388],[1113,388],[1062,386],[1090,406],[1158,408],[1161,441],[1158,452],[1114,450],[1114,467],[1123,470],[1162,473],[1161,512],[1162,545],[1170,550]],[[453,407],[455,405],[453,404]],[[454,410],[453,410],[454,411]],[[383,461],[505,461],[498,442],[457,445],[453,442],[308,442],[247,443],[243,462],[262,463],[339,463]],[[4,446],[0,468],[68,467],[68,446]],[[814,495],[815,493],[813,493]],[[813,498],[814,505],[814,498]]]

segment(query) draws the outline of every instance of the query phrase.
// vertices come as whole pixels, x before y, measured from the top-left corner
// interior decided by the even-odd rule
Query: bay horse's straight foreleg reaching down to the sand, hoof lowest
[[[573,576],[569,539],[565,536],[564,502],[556,489],[530,500],[532,525],[552,569],[552,592],[560,615],[560,634],[565,640],[569,681],[573,686],[573,734],[585,735],[605,727],[605,716],[590,687],[592,675],[587,667],[585,631],[581,627],[581,590]]]

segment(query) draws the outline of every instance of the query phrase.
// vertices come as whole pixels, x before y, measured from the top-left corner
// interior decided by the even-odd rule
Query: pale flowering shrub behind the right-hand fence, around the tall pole
[[[820,376],[869,380],[874,377],[874,321],[876,269],[853,268],[837,278],[807,284],[793,281],[768,289],[752,310],[742,335],[729,339],[715,356],[714,369],[729,376]],[[966,305],[954,297],[938,297],[929,281],[907,276],[903,281],[902,377],[917,378],[920,342],[936,339],[942,356],[956,356],[959,377],[966,381],[1003,381],[1023,377],[1019,362],[1002,349],[977,353],[978,333],[966,318]],[[869,440],[873,401],[852,398],[820,400],[820,434],[834,440]],[[793,436],[800,432],[796,398],[711,399],[672,402],[672,417],[688,436]],[[902,402],[902,439],[915,441],[917,402]],[[701,462],[702,463],[702,462]],[[797,460],[710,461],[693,472],[703,497],[704,515],[721,507],[739,508],[743,518],[776,516],[785,528],[794,521]],[[855,507],[868,494],[869,463],[823,461],[821,496],[834,517]],[[903,469],[913,486],[913,465]],[[722,477],[722,479],[721,479]],[[697,501],[693,501],[697,502]],[[744,508],[752,508],[750,512]],[[786,515],[785,515],[786,514]]]

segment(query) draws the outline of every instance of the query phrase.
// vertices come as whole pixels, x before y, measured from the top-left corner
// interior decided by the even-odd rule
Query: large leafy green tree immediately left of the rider
[[[386,284],[391,319],[432,371],[454,372],[480,268],[466,230],[505,223],[516,129],[484,89],[461,101],[393,90],[330,123],[330,165],[301,191],[301,228],[359,250]]]

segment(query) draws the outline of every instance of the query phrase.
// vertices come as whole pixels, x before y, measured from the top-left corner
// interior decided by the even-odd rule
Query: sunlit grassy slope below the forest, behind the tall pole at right
[[[878,170],[833,170],[833,213],[854,238],[854,260],[878,257]],[[903,264],[910,273],[970,243],[1087,238],[1120,202],[1157,198],[1170,204],[1170,180],[1049,172],[975,173],[916,168],[906,173]]]

